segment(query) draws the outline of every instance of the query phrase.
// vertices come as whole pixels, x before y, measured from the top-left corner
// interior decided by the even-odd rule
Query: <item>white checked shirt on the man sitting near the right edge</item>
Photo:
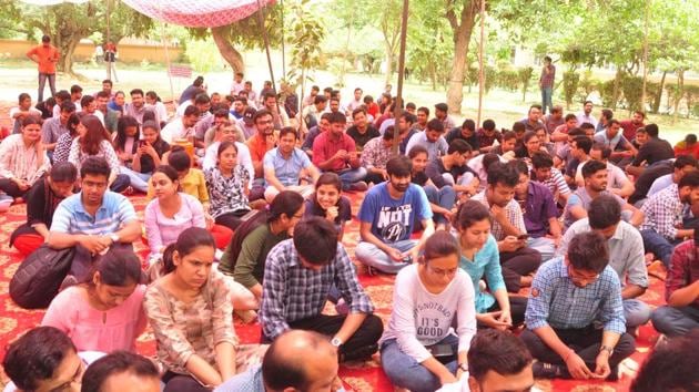
[[[655,194],[641,207],[646,220],[640,230],[655,230],[662,237],[675,240],[677,226],[682,223],[682,202],[679,199],[677,184]]]

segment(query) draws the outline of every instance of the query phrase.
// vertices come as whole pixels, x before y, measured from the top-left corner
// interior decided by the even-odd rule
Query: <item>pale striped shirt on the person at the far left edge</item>
[[[37,153],[37,144],[27,147],[21,134],[6,137],[0,143],[0,177],[20,178],[33,185],[51,168],[47,153],[42,149],[41,154]]]

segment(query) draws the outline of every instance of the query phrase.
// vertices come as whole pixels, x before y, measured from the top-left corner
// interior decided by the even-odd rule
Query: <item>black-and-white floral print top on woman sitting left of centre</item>
[[[250,209],[247,195],[245,195],[250,174],[245,167],[236,165],[231,177],[224,176],[217,166],[212,167],[204,171],[204,178],[206,178],[206,189],[209,189],[209,213],[212,217],[217,218],[224,214]]]

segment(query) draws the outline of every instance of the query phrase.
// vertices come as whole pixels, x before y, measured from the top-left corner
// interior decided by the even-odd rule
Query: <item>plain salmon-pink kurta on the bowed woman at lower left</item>
[[[69,287],[51,301],[41,324],[64,331],[78,351],[135,352],[135,340],[146,324],[144,293],[145,286],[139,285],[120,306],[101,311],[88,303],[82,288]]]

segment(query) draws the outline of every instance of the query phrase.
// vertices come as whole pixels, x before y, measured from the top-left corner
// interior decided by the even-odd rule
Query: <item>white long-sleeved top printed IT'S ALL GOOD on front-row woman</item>
[[[440,293],[427,291],[417,271],[417,264],[403,268],[394,285],[393,311],[381,342],[396,339],[405,354],[423,362],[432,354],[425,348],[438,343],[453,333],[452,321],[457,318],[458,351],[468,351],[476,334],[474,286],[460,268]],[[379,342],[379,345],[381,345]]]

